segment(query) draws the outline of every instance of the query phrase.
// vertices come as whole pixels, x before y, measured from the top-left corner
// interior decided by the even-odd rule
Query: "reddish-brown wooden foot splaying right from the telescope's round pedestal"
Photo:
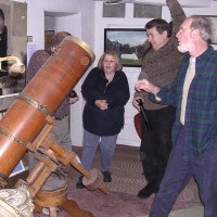
[[[71,217],[94,217],[91,212],[81,209],[75,201],[69,199],[59,207],[64,209]]]

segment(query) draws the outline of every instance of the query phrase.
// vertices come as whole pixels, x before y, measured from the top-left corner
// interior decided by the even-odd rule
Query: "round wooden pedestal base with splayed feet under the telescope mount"
[[[34,199],[34,213],[48,207],[50,217],[56,217],[56,207],[65,210],[71,217],[93,217],[93,214],[79,208],[78,204],[67,199],[66,187],[55,191],[39,191]]]

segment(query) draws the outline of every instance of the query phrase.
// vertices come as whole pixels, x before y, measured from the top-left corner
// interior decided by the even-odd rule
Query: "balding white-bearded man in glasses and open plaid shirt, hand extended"
[[[217,216],[217,52],[209,46],[212,27],[203,16],[190,16],[177,33],[184,54],[171,88],[143,79],[138,91],[177,107],[166,173],[152,204],[151,217],[167,217],[192,176],[200,189],[206,217]]]

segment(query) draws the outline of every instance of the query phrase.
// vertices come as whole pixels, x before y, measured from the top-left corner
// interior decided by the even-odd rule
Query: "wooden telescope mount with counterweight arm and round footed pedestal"
[[[52,124],[50,119],[50,124]],[[50,133],[53,125],[47,125],[39,135],[35,144],[29,143],[27,148],[31,151],[37,150],[36,158],[39,163],[27,177],[26,181],[18,180],[16,187],[27,186],[33,199],[34,213],[40,212],[43,207],[49,208],[50,217],[56,217],[56,208],[65,210],[71,217],[93,217],[93,214],[81,209],[77,203],[67,197],[67,186],[52,191],[40,190],[43,183],[53,171],[61,171],[65,166],[72,165],[84,177],[84,184],[89,190],[100,189],[105,194],[108,190],[103,182],[103,176],[97,169],[86,170],[74,152],[66,152],[60,146]]]

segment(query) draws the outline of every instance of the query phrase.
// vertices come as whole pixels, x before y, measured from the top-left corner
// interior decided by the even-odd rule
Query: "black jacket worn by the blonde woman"
[[[95,67],[85,79],[81,93],[86,100],[82,114],[84,128],[98,136],[119,133],[124,126],[124,106],[130,97],[125,73],[116,72],[108,84],[103,69]],[[94,104],[95,100],[106,100],[108,108],[100,110]]]

